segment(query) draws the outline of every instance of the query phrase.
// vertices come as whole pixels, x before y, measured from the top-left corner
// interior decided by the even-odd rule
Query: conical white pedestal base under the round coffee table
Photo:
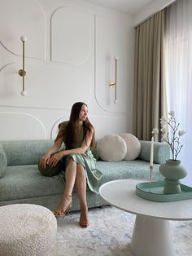
[[[175,256],[168,220],[137,215],[131,249],[135,256]]]

